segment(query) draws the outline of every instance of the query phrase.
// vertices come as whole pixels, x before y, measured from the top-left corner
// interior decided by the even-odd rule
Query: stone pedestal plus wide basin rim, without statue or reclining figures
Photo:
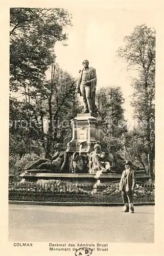
[[[78,114],[72,120],[73,137],[67,143],[67,155],[69,169],[65,173],[51,173],[51,170],[27,170],[21,174],[22,182],[35,181],[44,183],[48,180],[60,180],[76,185],[87,185],[90,189],[97,189],[98,180],[95,174],[88,174],[89,153],[94,151],[94,145],[99,144],[101,150],[108,155],[107,143],[103,141],[103,122],[97,114]],[[136,172],[137,181],[147,182],[150,176]],[[101,185],[118,183],[121,175],[102,173],[99,178]],[[95,191],[95,190],[94,190]]]

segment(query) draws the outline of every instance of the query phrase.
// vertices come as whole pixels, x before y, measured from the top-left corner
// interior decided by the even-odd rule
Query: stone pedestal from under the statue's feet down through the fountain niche
[[[95,144],[108,156],[107,144],[103,141],[103,122],[98,114],[82,113],[71,120],[73,137],[67,143],[69,173],[88,173],[89,153],[94,151]],[[76,167],[75,167],[76,165]]]

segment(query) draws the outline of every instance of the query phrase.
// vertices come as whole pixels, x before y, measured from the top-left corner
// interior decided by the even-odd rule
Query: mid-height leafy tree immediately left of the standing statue
[[[45,157],[50,155],[55,142],[66,145],[71,139],[70,119],[80,110],[76,92],[77,80],[62,71],[58,65],[53,65],[51,72],[51,80],[45,82],[43,91],[39,90],[40,97],[45,97],[45,117],[49,121]]]

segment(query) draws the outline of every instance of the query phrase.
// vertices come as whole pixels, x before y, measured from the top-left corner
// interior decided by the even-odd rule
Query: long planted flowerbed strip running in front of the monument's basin
[[[9,182],[9,200],[44,201],[44,202],[111,202],[122,203],[119,184],[99,186],[92,193],[89,185],[67,184],[63,181],[49,181],[44,184],[36,182]],[[134,202],[154,202],[154,184],[138,183],[133,191]]]

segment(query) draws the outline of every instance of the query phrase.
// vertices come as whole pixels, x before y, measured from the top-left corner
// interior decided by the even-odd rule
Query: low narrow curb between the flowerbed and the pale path
[[[33,202],[33,201],[9,201],[9,204],[28,205],[60,205],[60,206],[123,206],[123,203],[87,203],[87,202]],[[154,202],[134,203],[134,205],[155,205]]]

